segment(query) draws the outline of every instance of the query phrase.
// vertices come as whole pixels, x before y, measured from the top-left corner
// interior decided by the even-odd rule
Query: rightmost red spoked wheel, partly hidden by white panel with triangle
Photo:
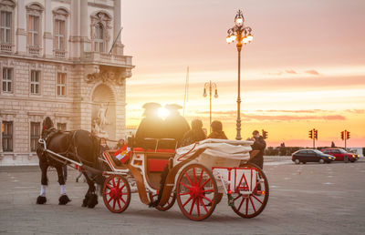
[[[269,196],[268,182],[264,171],[255,164],[246,163],[241,165],[240,168],[253,169],[253,174],[257,174],[257,184],[250,194],[245,193],[245,190],[235,191],[232,194],[234,198],[232,209],[243,218],[254,218],[266,207]]]

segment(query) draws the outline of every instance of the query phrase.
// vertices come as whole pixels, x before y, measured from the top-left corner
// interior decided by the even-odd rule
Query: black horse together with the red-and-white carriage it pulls
[[[120,165],[114,156],[117,150],[105,151],[99,160],[98,139],[88,131],[57,131],[49,117],[43,126],[37,148],[42,170],[37,204],[47,201],[48,166],[57,169],[59,204],[70,201],[62,173],[62,166],[68,164],[82,169],[88,181],[84,207],[98,204],[95,182],[103,184],[104,203],[116,213],[128,208],[132,191],[138,191],[142,203],[160,210],[170,209],[177,201],[190,220],[208,218],[224,195],[228,206],[243,218],[253,218],[266,207],[266,176],[247,162],[258,152],[251,151],[252,141],[208,138],[183,148],[161,149],[164,139],[150,139],[156,141],[154,149],[132,148],[130,158],[123,158]]]

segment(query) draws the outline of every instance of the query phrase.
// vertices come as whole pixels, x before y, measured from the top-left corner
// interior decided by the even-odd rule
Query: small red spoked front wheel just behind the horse
[[[105,206],[113,213],[123,212],[130,205],[130,184],[119,175],[110,176],[103,187]]]

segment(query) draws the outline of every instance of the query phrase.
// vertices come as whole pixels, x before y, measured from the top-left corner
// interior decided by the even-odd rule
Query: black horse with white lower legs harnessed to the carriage
[[[47,149],[64,156],[68,159],[82,163],[83,175],[87,179],[89,189],[85,195],[82,206],[94,208],[98,204],[98,195],[96,194],[95,183],[102,185],[105,178],[100,174],[102,163],[99,162],[99,138],[92,135],[86,130],[59,131],[54,128],[50,117],[46,117],[43,121],[42,135],[46,141]],[[39,158],[39,167],[42,171],[41,192],[36,199],[36,204],[46,203],[46,186],[47,186],[47,169],[53,167],[57,170],[58,183],[60,185],[61,196],[59,197],[59,205],[66,205],[70,199],[66,194],[65,178],[63,175],[63,166],[66,160],[57,158],[56,156],[45,151],[44,145],[38,144],[36,154]],[[97,169],[88,170],[85,169]]]

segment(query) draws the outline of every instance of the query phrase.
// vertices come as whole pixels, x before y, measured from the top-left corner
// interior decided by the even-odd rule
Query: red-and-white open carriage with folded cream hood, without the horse
[[[262,169],[247,163],[252,141],[205,139],[175,149],[132,148],[124,164],[116,164],[114,153],[103,153],[108,165],[103,175],[103,200],[108,209],[120,213],[130,204],[131,191],[141,202],[167,210],[177,201],[190,220],[204,220],[224,195],[228,206],[243,218],[253,218],[266,207],[268,182]],[[130,187],[132,185],[132,187]],[[134,190],[132,190],[132,189]],[[136,188],[136,189],[135,189]]]

